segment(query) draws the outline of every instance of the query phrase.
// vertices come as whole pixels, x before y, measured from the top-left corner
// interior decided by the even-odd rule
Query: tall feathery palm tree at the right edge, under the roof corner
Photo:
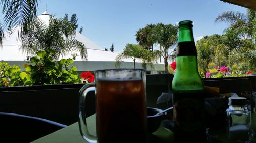
[[[256,10],[247,9],[247,13],[227,11],[220,14],[216,22],[230,23],[222,36],[223,44],[216,49],[216,54],[224,54],[229,65],[247,63],[247,67],[255,70]],[[228,56],[227,56],[228,55]],[[227,59],[228,58],[228,59]],[[216,55],[220,62],[220,56]],[[224,62],[224,59],[221,60]]]

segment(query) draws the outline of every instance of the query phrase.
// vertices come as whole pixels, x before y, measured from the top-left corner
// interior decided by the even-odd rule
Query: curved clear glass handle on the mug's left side
[[[97,137],[94,135],[91,135],[87,128],[86,123],[86,110],[84,109],[84,104],[86,103],[86,96],[88,92],[95,91],[95,83],[88,83],[86,85],[83,85],[83,87],[79,91],[79,118],[78,118],[78,124],[79,124],[79,130],[84,140],[88,141],[89,143],[96,143]]]

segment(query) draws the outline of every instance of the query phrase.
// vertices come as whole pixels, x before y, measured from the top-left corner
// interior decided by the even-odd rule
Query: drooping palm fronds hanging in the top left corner
[[[29,26],[37,14],[37,0],[0,0],[0,4],[3,6],[2,12],[5,14],[4,23],[10,33],[13,32],[15,26],[19,28],[19,31],[23,26]],[[3,38],[3,25],[0,24],[0,46],[2,46]]]

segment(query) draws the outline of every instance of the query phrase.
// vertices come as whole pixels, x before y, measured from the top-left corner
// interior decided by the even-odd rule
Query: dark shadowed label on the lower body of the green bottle
[[[204,131],[204,96],[202,93],[173,94],[175,128],[184,132]]]

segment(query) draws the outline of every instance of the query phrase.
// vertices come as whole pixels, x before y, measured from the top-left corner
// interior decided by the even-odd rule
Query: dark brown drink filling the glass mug
[[[146,142],[143,80],[99,79],[96,91],[98,142]]]

